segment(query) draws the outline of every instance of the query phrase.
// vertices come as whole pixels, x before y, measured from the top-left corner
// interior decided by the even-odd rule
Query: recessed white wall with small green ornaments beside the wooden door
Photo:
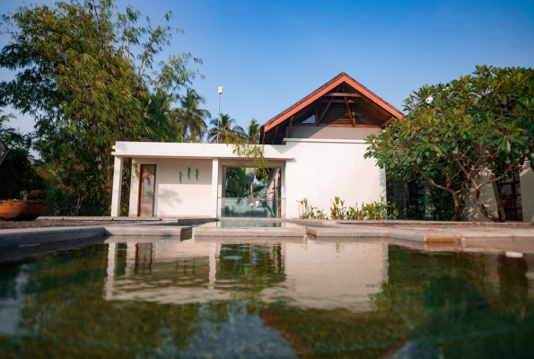
[[[156,165],[156,199],[154,215],[158,217],[210,216],[212,212],[212,160],[134,158],[141,164]],[[188,168],[191,169],[188,179]],[[198,169],[198,180],[195,170]],[[179,183],[179,171],[182,183]],[[129,215],[137,216],[139,180],[132,171]],[[137,173],[138,175],[139,173]]]

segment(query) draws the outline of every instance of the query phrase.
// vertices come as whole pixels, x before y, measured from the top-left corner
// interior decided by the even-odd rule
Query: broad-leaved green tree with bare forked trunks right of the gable
[[[533,96],[534,72],[519,67],[477,66],[473,75],[425,85],[405,101],[406,118],[368,137],[365,158],[449,193],[452,220],[460,220],[461,195],[474,188],[482,214],[497,220],[479,202],[480,189],[521,171],[531,160]],[[491,175],[483,180],[488,171]]]

